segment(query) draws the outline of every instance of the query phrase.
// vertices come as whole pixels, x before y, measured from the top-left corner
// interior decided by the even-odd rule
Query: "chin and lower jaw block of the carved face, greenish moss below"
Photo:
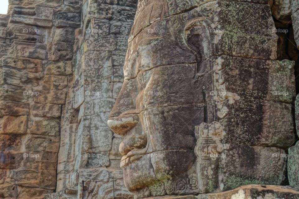
[[[192,150],[158,151],[123,158],[125,186],[135,198],[195,194],[190,177],[195,174],[195,159]]]

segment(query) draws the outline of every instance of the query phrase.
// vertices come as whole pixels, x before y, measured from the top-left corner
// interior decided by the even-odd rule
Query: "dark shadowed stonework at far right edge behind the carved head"
[[[278,28],[287,28],[289,30],[288,36],[286,34],[280,33],[281,44],[283,41],[287,44],[285,45],[284,56],[286,59],[291,59],[295,61],[295,76],[296,76],[296,90],[297,94],[299,93],[299,2],[298,1],[288,1],[288,0],[274,0],[272,7],[273,16],[279,20]],[[278,33],[279,34],[279,33]],[[284,35],[284,36],[282,36]],[[284,45],[281,45],[284,46]],[[297,95],[295,104],[293,106],[295,109],[295,121],[296,121],[296,129],[297,136],[296,142],[298,141],[298,132],[299,132],[299,95]],[[295,143],[296,143],[295,142]],[[288,181],[290,186],[299,188],[299,142],[296,143],[295,146],[290,146],[288,148]]]

